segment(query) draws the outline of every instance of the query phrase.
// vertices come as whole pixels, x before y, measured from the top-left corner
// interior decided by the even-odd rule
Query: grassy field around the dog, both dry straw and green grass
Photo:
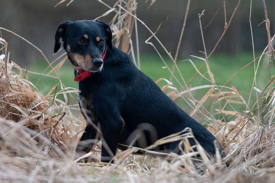
[[[239,3],[230,20],[225,19],[220,39],[226,36]],[[213,159],[198,142],[198,152],[193,152],[188,138],[194,136],[189,128],[159,139],[142,149],[143,155],[135,154],[140,149],[131,146],[118,150],[113,164],[100,161],[102,142],[79,156],[75,148],[86,123],[76,100],[78,86],[73,81],[72,66],[65,55],[60,56],[63,50],[53,61],[20,35],[0,28],[23,39],[44,57],[20,67],[20,60],[9,60],[12,45],[0,40],[0,182],[274,182],[275,35],[268,37],[266,48],[257,51],[255,59],[254,50],[238,55],[216,53],[219,41],[210,53],[205,49],[176,59],[147,27],[152,36],[146,43],[156,52],[145,55],[130,40],[135,21],[146,27],[134,15],[136,1],[117,1],[115,8],[104,5],[110,9],[104,16],[110,11],[116,13],[110,22],[113,45],[129,53],[141,71],[214,134],[227,156],[221,158],[217,150]],[[203,31],[201,36],[205,46]],[[150,42],[152,37],[156,41]],[[154,44],[159,44],[162,51]],[[151,151],[154,146],[175,140],[184,144],[182,155]],[[194,157],[197,155],[198,160]]]

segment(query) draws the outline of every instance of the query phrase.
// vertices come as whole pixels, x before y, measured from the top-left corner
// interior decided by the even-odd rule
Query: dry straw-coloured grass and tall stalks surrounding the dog
[[[62,1],[64,2],[64,1]],[[71,2],[71,1],[70,1]],[[127,53],[131,53],[139,67],[138,42],[136,51],[131,38],[133,30],[137,30],[137,22],[141,22],[136,16],[137,3],[135,0],[117,1],[113,7],[100,1],[110,8],[102,16],[115,13],[110,25],[114,33],[114,43]],[[152,4],[155,1],[152,1]],[[190,1],[188,1],[189,3]],[[240,1],[239,1],[240,3]],[[233,12],[229,22],[225,18],[225,30],[219,41],[225,35],[239,3]],[[151,4],[151,5],[152,5]],[[224,3],[225,5],[225,3]],[[186,9],[188,11],[188,8]],[[201,21],[199,14],[199,20]],[[187,13],[186,13],[187,16]],[[225,11],[226,16],[226,11]],[[186,20],[185,20],[186,21]],[[209,81],[209,85],[191,87],[192,79],[186,82],[180,74],[176,64],[176,58],[165,49],[155,34],[141,22],[152,33],[146,43],[156,47],[149,42],[152,37],[156,38],[164,52],[168,54],[174,63],[171,78],[159,79],[167,82],[162,90],[167,92],[173,100],[183,98],[193,111],[191,116],[202,124],[207,124],[208,130],[215,134],[217,140],[222,144],[227,157],[222,160],[217,153],[216,160],[212,160],[205,154],[199,144],[199,152],[190,151],[187,138],[192,138],[192,131],[182,135],[173,134],[167,138],[158,140],[154,145],[144,149],[148,153],[154,153],[150,149],[155,145],[182,139],[186,149],[183,155],[157,153],[156,155],[166,158],[151,157],[147,154],[134,154],[138,149],[129,147],[126,151],[119,151],[115,157],[114,164],[100,162],[101,142],[88,154],[76,158],[75,144],[78,142],[81,131],[85,127],[83,117],[79,115],[76,104],[68,105],[68,98],[75,100],[77,89],[65,87],[59,79],[56,71],[60,69],[66,58],[63,58],[55,67],[49,63],[51,72],[54,74],[40,74],[41,77],[53,77],[57,79],[61,90],[53,86],[46,96],[39,92],[33,83],[28,80],[28,68],[23,70],[13,61],[9,61],[7,53],[7,42],[1,38],[1,51],[3,52],[0,62],[0,180],[1,182],[273,182],[275,178],[275,92],[274,76],[266,83],[265,89],[259,91],[256,87],[257,70],[263,55],[270,54],[269,40],[268,48],[263,54],[255,58],[248,65],[254,64],[255,77],[251,93],[255,92],[256,98],[252,97],[245,101],[239,94],[237,88],[215,84],[215,78],[209,69],[208,59],[215,51],[219,41],[210,54],[204,51],[205,57],[197,57],[203,61],[200,68],[195,69],[195,75],[199,74],[202,79]],[[184,25],[185,26],[185,23]],[[8,31],[0,28],[0,31]],[[251,28],[252,31],[252,28]],[[269,31],[269,30],[268,30]],[[11,32],[11,31],[9,31]],[[182,29],[184,33],[184,27]],[[201,29],[202,38],[203,31]],[[13,33],[15,35],[15,33]],[[16,35],[18,36],[18,35]],[[137,32],[135,31],[137,39]],[[21,38],[20,36],[18,36]],[[23,39],[23,38],[21,38]],[[181,41],[181,39],[180,39]],[[252,39],[253,41],[253,39]],[[27,43],[31,44],[27,41]],[[180,45],[180,44],[179,44]],[[205,47],[205,43],[203,41]],[[34,45],[33,45],[34,46]],[[34,46],[35,47],[35,46]],[[37,47],[35,47],[38,49]],[[38,49],[42,53],[41,50]],[[156,52],[162,55],[156,49]],[[42,53],[44,56],[44,54]],[[177,57],[177,54],[176,54]],[[164,61],[164,59],[162,59]],[[166,64],[166,62],[164,61]],[[258,65],[257,65],[258,64]],[[208,75],[200,73],[202,67],[206,67]],[[244,66],[240,69],[243,70]],[[13,69],[12,69],[13,68]],[[15,69],[17,70],[16,72]],[[179,72],[180,78],[174,76],[174,71]],[[239,71],[237,72],[239,73]],[[237,76],[237,73],[230,79]],[[37,73],[39,74],[39,73]],[[272,75],[272,74],[271,74]],[[230,80],[229,79],[229,80]],[[250,78],[242,78],[250,79]],[[178,82],[182,88],[176,89],[173,83]],[[201,99],[195,99],[192,91],[209,88],[209,91]],[[64,101],[56,98],[64,96]],[[188,96],[188,100],[184,96]],[[221,101],[225,101],[222,105]],[[235,105],[242,105],[243,111],[236,111]],[[229,106],[231,110],[225,110]],[[215,109],[209,110],[210,108]],[[226,121],[226,116],[230,120]],[[78,135],[79,134],[79,135]],[[202,157],[201,167],[193,161],[192,156],[200,154]],[[230,167],[225,168],[223,163],[230,161]],[[184,168],[181,166],[184,165]],[[201,171],[198,171],[201,170]]]

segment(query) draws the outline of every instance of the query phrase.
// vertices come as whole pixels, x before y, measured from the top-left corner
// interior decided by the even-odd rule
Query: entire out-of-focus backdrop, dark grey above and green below
[[[227,23],[238,1],[239,0],[226,1]],[[60,23],[67,20],[95,19],[108,10],[106,6],[95,0],[74,0],[68,6],[66,5],[70,1],[66,1],[54,7],[59,2],[60,0],[1,0],[0,27],[9,29],[29,40],[40,48],[50,61],[53,61],[61,55],[61,53],[53,55],[54,35]],[[104,2],[113,6],[116,1],[105,0]],[[270,19],[270,33],[271,36],[273,36],[275,30],[275,1],[266,0],[265,2],[268,18]],[[160,23],[162,23],[156,36],[174,56],[184,21],[187,0],[157,0],[150,8],[148,7],[151,1],[138,0],[137,3],[137,17],[146,23],[153,32],[156,31]],[[204,57],[204,54],[199,52],[203,51],[203,44],[198,18],[198,13],[201,13],[203,10],[205,11],[201,17],[201,22],[208,53],[213,49],[224,31],[225,18],[223,0],[191,1],[178,59],[178,67],[186,81],[192,78],[195,69],[190,62],[181,60],[192,59],[195,65],[199,67],[202,61],[194,59],[190,55]],[[114,15],[115,13],[112,12],[110,15],[101,19],[105,22],[110,22]],[[209,66],[214,74],[217,85],[223,85],[236,71],[253,60],[249,17],[250,1],[243,0],[239,5],[228,31],[219,43],[215,53],[209,59]],[[261,55],[261,52],[267,45],[266,24],[262,23],[264,19],[262,1],[252,0],[251,23],[256,57]],[[164,63],[157,56],[154,48],[144,42],[150,37],[150,32],[139,22],[137,23],[137,27],[141,57],[140,69],[154,81],[160,77],[169,80],[170,73],[168,69],[163,68]],[[133,30],[132,38],[133,45],[135,45],[134,31],[135,30]],[[36,49],[10,33],[1,31],[1,34],[9,43],[8,51],[10,51],[10,60],[15,61],[23,68],[30,65],[29,70],[32,71],[44,71],[47,63]],[[160,46],[156,43],[156,40],[152,39],[152,42],[155,43],[158,50],[163,54],[163,49],[159,49]],[[165,55],[164,59],[167,60],[168,66],[172,67],[171,61],[168,60]],[[269,69],[269,66],[266,60],[267,59],[261,62],[258,74],[260,75],[259,81],[269,79],[269,74],[266,71],[266,69]],[[272,66],[272,71],[273,68]],[[201,70],[203,74],[205,74],[206,71],[205,68]],[[66,61],[64,66],[58,71],[58,74],[66,86],[78,87],[77,82],[73,82],[73,68],[70,66],[69,61]],[[175,75],[179,77],[178,73],[175,73]],[[32,74],[28,74],[28,77],[33,83],[36,83],[40,78],[39,75]],[[253,77],[254,66],[250,65],[239,73],[228,85],[237,87],[239,92],[245,96],[247,100],[252,87]],[[46,78],[43,81],[52,83],[52,85],[55,85],[57,82],[51,78]],[[41,92],[48,92],[49,89],[52,88],[52,85],[45,85],[45,82],[37,83]],[[161,83],[160,86],[163,84],[164,83]],[[205,82],[201,77],[195,78],[191,83],[192,86],[202,84],[210,83]],[[178,87],[176,83],[175,86]],[[259,83],[258,88],[261,89],[261,87],[264,87],[264,85]],[[194,92],[194,96],[201,98],[207,90],[200,91],[198,93],[197,91]]]

